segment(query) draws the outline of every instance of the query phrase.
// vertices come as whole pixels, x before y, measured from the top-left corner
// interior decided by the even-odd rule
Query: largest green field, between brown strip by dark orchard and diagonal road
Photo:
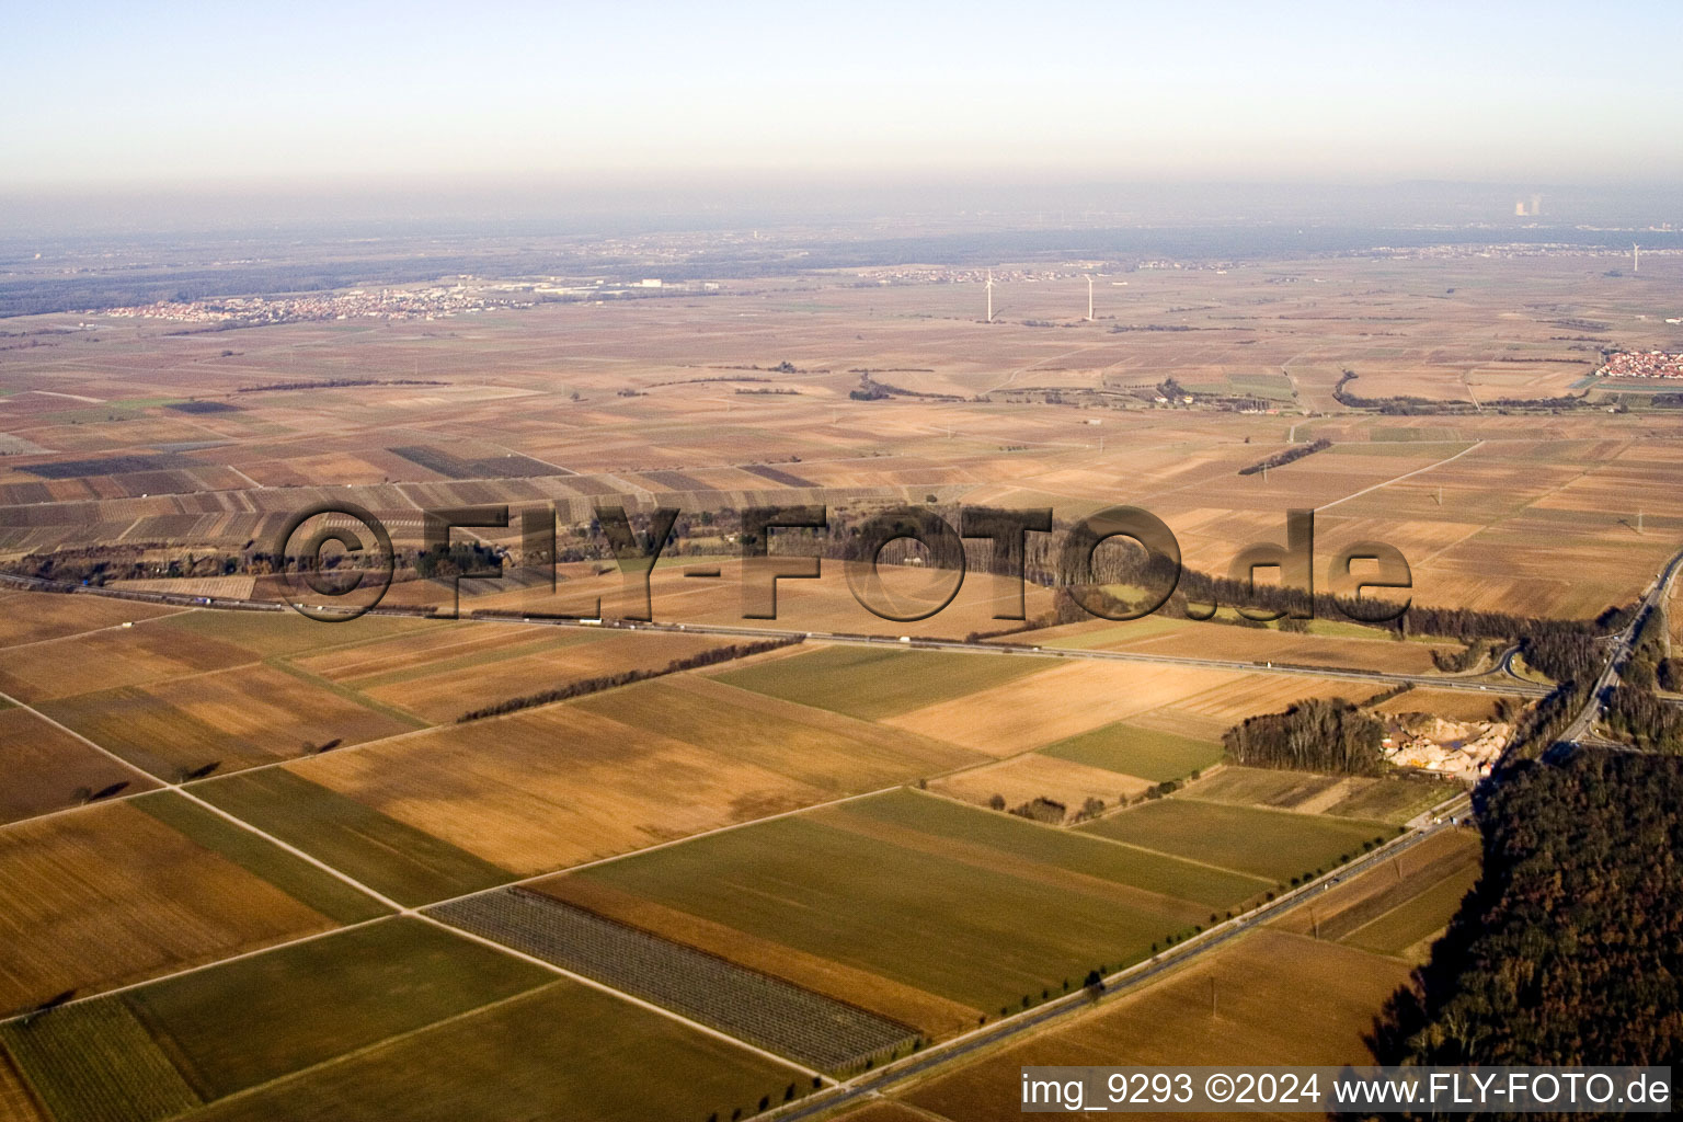
[[[577,875],[985,1011],[1267,886],[911,791]]]

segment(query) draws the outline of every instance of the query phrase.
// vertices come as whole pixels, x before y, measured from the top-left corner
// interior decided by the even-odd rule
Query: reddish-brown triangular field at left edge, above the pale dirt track
[[[15,707],[0,707],[0,823],[158,786]]]

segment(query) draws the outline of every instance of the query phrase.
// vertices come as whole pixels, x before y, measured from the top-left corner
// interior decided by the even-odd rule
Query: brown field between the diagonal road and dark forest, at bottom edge
[[[1363,1036],[1407,977],[1395,959],[1257,929],[1067,1026],[937,1073],[904,1098],[963,1122],[1006,1122],[1022,1117],[1025,1065],[1372,1063]],[[1293,1014],[1281,1016],[1282,1006]]]

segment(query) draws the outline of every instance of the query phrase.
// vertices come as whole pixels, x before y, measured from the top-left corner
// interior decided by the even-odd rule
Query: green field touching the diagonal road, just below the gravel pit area
[[[1333,868],[1363,841],[1397,833],[1385,823],[1293,814],[1195,799],[1158,799],[1080,828],[1101,838],[1284,881]]]

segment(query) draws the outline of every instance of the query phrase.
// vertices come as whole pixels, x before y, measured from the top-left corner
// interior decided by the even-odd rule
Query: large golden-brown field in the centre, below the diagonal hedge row
[[[520,875],[976,762],[675,675],[293,765]]]

